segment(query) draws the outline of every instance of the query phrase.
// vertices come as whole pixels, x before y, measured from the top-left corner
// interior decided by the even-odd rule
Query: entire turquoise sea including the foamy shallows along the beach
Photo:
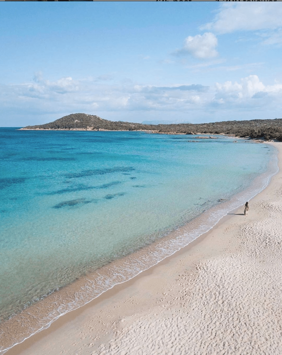
[[[188,245],[278,171],[273,146],[222,135],[4,127],[0,142],[1,354]]]

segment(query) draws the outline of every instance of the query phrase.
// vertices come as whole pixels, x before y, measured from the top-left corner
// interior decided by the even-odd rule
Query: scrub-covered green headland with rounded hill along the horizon
[[[27,126],[29,130],[111,130],[111,131],[153,131],[156,133],[213,133],[229,134],[236,137],[282,141],[282,119],[222,121],[201,124],[159,124],[108,121],[96,115],[75,113],[44,125]]]

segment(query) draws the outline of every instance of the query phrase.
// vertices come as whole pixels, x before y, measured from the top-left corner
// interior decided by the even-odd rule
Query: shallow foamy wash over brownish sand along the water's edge
[[[274,157],[276,155],[273,155]],[[273,158],[270,160],[271,165],[274,163]],[[5,342],[2,342],[2,346],[5,344],[5,348],[10,348],[10,344],[15,343],[15,339],[19,339],[20,341],[21,339],[33,337],[34,334],[40,332],[38,329],[49,327],[50,324],[57,322],[58,318],[62,317],[65,313],[73,312],[77,308],[83,307],[93,299],[101,297],[113,285],[128,282],[132,278],[135,278],[136,275],[159,264],[162,260],[174,255],[175,252],[178,252],[183,247],[190,245],[192,240],[199,239],[199,236],[213,228],[222,216],[243,203],[246,193],[249,199],[261,191],[261,189],[264,189],[270,177],[275,174],[274,167],[272,165],[272,169],[267,169],[264,177],[263,175],[258,176],[252,185],[249,186],[249,189],[237,193],[231,200],[216,204],[207,211],[202,212],[201,215],[194,218],[188,224],[173,230],[167,236],[157,240],[150,246],[145,246],[131,253],[129,256],[106,264],[105,267],[97,271],[81,276],[71,284],[54,291],[47,297],[30,305],[26,310],[15,315],[15,317],[11,317],[10,320],[3,322],[2,330],[8,336],[5,338]],[[132,272],[125,272],[129,266]],[[55,306],[50,307],[51,305]],[[20,329],[17,326],[19,322],[22,324]],[[30,335],[30,329],[32,329],[32,335]],[[26,340],[23,341],[25,342]],[[3,351],[0,354],[3,354]]]

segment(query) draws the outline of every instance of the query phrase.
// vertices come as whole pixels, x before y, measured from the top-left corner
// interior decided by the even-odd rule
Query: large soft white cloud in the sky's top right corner
[[[216,33],[276,29],[282,26],[281,5],[280,2],[256,2],[255,6],[246,2],[222,4],[214,20],[201,26],[201,29]]]

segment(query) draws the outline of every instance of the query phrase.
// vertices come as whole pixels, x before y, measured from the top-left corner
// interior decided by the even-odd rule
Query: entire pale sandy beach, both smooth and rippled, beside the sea
[[[282,144],[265,190],[7,355],[282,354]]]

